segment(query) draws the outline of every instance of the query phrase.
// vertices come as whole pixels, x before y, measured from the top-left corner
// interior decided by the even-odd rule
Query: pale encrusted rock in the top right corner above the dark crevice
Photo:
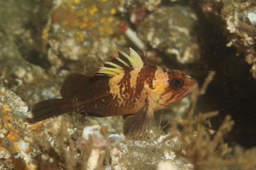
[[[226,46],[234,46],[236,56],[244,54],[251,64],[250,72],[256,78],[256,6],[255,1],[201,1],[200,6],[206,18],[223,28],[229,41]]]

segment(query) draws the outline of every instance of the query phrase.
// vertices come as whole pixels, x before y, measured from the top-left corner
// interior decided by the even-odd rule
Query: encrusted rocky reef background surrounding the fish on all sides
[[[0,1],[0,169],[256,169],[255,37],[254,0]],[[121,116],[26,121],[129,47],[199,83],[148,134],[124,136]]]

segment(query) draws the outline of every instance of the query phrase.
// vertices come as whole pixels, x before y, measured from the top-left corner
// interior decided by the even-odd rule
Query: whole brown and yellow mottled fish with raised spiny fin
[[[132,48],[130,55],[118,50],[111,62],[91,76],[70,73],[60,88],[62,98],[37,102],[31,107],[32,123],[66,112],[88,116],[122,115],[123,133],[140,136],[149,132],[154,111],[180,101],[198,87],[195,79],[177,69],[151,65],[145,51],[141,56]],[[75,110],[74,103],[79,104]]]

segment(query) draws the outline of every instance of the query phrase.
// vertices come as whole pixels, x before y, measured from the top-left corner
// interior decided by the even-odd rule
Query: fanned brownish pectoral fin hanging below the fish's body
[[[149,103],[145,104],[136,114],[125,118],[123,132],[125,135],[139,136],[149,132],[154,122],[154,111]]]

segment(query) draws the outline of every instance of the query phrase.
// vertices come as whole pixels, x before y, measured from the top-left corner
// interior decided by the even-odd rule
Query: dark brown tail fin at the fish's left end
[[[64,99],[55,98],[37,102],[31,107],[30,112],[32,114],[32,118],[28,121],[36,123],[38,121],[68,112],[63,112],[62,110],[61,104],[63,100]]]

